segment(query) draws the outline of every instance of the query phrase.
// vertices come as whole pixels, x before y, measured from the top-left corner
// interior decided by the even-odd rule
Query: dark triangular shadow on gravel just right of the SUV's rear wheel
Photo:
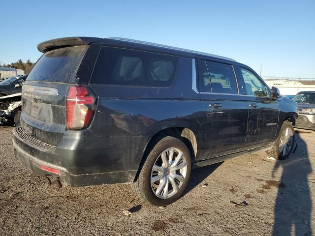
[[[188,186],[184,195],[189,193],[194,187],[201,183],[206,177],[210,176],[223,162],[216,163],[209,166],[200,167],[191,171]]]

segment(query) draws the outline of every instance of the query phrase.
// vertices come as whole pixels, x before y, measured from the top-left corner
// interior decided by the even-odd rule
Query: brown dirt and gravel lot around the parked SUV
[[[12,128],[0,128],[1,235],[312,235],[315,133],[300,131],[285,161],[264,152],[196,169],[184,197],[165,208],[141,202],[129,185],[58,189],[13,156]],[[235,206],[230,203],[244,204]],[[130,216],[124,210],[132,212]]]

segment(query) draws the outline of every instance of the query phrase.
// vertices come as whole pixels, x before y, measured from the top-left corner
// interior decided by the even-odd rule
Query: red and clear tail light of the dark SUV
[[[70,86],[67,94],[67,129],[89,126],[95,111],[95,96],[86,87]]]

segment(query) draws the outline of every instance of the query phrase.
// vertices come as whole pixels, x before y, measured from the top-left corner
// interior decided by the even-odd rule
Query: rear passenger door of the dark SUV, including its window
[[[198,72],[206,122],[204,159],[244,148],[248,104],[238,89],[233,63],[201,59]]]

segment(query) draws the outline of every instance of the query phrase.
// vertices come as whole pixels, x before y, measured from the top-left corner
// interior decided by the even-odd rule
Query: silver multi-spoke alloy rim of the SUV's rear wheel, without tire
[[[178,148],[167,148],[155,161],[151,171],[151,188],[161,199],[174,196],[187,174],[187,161]]]

